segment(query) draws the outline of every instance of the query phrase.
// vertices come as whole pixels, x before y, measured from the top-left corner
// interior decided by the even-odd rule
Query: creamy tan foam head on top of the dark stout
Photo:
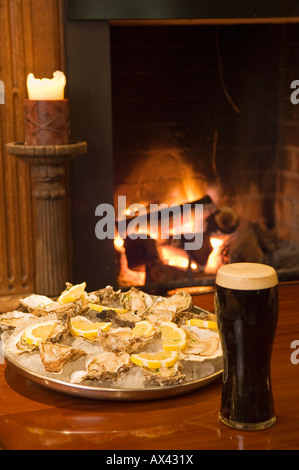
[[[260,263],[231,263],[221,266],[216,274],[216,284],[227,289],[259,290],[278,284],[274,268]]]

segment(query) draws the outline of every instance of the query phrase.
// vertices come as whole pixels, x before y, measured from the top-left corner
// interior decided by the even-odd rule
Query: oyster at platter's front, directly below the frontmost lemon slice
[[[145,378],[145,385],[152,387],[165,387],[177,385],[183,382],[185,375],[181,373],[182,366],[179,362],[172,367],[161,367],[160,369],[149,369],[141,367]]]

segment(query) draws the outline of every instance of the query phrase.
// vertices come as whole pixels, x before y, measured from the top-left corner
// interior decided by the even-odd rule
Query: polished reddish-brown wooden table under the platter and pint
[[[213,293],[194,297],[194,304],[210,311],[213,301]],[[277,423],[255,432],[233,430],[219,422],[221,379],[180,397],[105,402],[46,390],[1,364],[0,448],[298,450],[299,348],[298,354],[291,348],[294,341],[299,342],[299,283],[282,284],[272,356]]]

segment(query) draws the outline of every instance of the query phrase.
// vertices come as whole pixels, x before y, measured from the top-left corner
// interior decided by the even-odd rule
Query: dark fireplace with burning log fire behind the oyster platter
[[[73,135],[89,145],[71,177],[75,280],[165,292],[213,285],[234,261],[298,279],[299,26],[95,20],[70,4]],[[127,223],[134,204],[200,204],[202,247],[184,250],[189,227],[132,240],[116,225],[114,240],[98,240],[95,209],[118,213],[119,196]]]

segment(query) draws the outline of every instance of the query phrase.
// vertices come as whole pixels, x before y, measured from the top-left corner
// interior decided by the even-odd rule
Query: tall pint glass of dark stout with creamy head
[[[232,263],[216,274],[215,312],[223,349],[220,420],[260,430],[275,421],[270,363],[278,319],[276,271]]]

